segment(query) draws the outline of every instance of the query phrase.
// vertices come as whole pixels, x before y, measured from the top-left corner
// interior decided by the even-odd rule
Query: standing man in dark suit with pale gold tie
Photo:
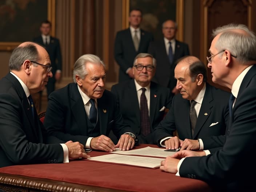
[[[153,41],[153,35],[140,29],[142,11],[132,9],[129,15],[130,27],[116,33],[115,59],[119,65],[119,82],[134,79],[132,73],[133,60],[138,53],[147,53]]]

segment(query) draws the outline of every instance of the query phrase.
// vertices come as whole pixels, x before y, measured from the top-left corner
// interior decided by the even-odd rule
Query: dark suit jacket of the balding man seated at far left
[[[48,136],[36,115],[33,123],[29,106],[21,84],[8,73],[0,80],[0,167],[63,162],[63,141]]]

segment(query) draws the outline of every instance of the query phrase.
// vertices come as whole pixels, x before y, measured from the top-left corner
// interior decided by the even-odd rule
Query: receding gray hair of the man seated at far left
[[[28,42],[24,46],[16,47],[12,51],[12,54],[9,60],[9,70],[20,71],[21,65],[25,60],[37,61],[38,58],[39,58],[39,53],[37,51],[35,43]]]

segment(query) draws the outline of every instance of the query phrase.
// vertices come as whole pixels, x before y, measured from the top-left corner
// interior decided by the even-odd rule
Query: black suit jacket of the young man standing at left
[[[49,45],[45,45],[43,42],[43,38],[40,35],[38,37],[35,37],[33,39],[33,41],[41,44],[47,50],[47,52],[50,56],[51,66],[52,66],[52,74],[53,74],[53,78],[54,78],[55,72],[57,70],[61,70],[61,68],[62,68],[62,57],[61,57],[59,39],[51,36]]]

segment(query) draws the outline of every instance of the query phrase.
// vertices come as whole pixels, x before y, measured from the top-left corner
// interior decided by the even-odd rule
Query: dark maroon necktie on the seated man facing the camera
[[[141,88],[142,93],[140,96],[140,123],[141,123],[141,133],[146,136],[150,133],[150,124],[148,117],[148,103],[147,98],[145,96],[145,88]]]

